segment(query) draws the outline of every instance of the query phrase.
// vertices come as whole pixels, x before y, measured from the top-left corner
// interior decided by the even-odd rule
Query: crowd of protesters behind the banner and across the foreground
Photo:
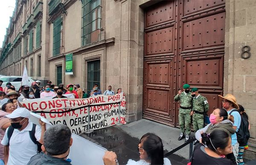
[[[93,85],[89,93],[83,91],[79,84],[64,86],[61,83],[57,86],[52,85],[51,81],[44,86],[40,84],[40,81],[36,81],[31,87],[23,85],[19,92],[16,92],[11,83],[0,88],[0,165],[72,164],[67,159],[73,143],[70,128],[66,125],[54,125],[46,130],[45,123],[41,120],[40,125],[35,125],[29,120],[29,110],[23,108],[19,102],[45,97],[65,98],[65,94],[73,94],[77,99],[96,97],[102,91],[97,84]],[[123,93],[121,88],[115,93],[109,85],[103,95],[120,93]],[[190,159],[192,165],[244,164],[242,156],[250,137],[247,114],[233,95],[219,97],[222,98],[222,108],[215,109],[209,117],[211,123],[195,133],[198,143]],[[241,131],[244,131],[243,135]],[[241,136],[244,136],[242,140]],[[156,134],[143,135],[138,144],[138,152],[140,160],[129,160],[128,165],[171,165],[169,159],[163,156],[163,143]],[[107,151],[102,159],[105,165],[116,165],[117,156],[114,152]]]

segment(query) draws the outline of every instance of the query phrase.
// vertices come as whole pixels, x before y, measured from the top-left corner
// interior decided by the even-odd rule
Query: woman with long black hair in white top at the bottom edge
[[[171,165],[167,158],[163,158],[163,142],[153,133],[147,133],[140,139],[138,145],[140,160],[129,159],[127,165]],[[117,156],[112,151],[107,151],[103,156],[104,165],[116,165]]]

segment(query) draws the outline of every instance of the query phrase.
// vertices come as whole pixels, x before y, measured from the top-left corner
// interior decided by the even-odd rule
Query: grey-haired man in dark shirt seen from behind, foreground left
[[[71,131],[67,125],[52,125],[44,133],[44,144],[41,147],[44,153],[32,156],[28,165],[71,165],[67,156],[72,143]]]

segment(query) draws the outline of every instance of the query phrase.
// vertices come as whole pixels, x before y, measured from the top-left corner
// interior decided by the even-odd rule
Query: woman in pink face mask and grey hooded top
[[[234,134],[236,130],[233,128],[233,116],[228,115],[227,111],[223,108],[215,109],[210,115],[210,124],[203,129],[196,131],[195,138],[202,143],[201,134],[210,134],[215,129],[220,129],[227,132],[229,135]]]

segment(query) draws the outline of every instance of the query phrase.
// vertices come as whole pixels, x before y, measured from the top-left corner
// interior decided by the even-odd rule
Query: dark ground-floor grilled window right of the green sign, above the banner
[[[87,62],[87,92],[89,96],[93,84],[97,84],[100,89],[100,60]]]

